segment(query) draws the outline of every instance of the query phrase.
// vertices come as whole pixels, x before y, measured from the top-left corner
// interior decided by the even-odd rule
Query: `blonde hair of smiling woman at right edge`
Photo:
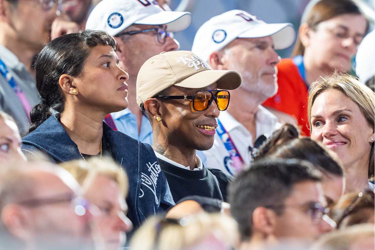
[[[311,84],[308,99],[308,119],[310,130],[311,126],[311,108],[315,99],[323,92],[337,89],[344,95],[355,102],[360,108],[363,116],[368,124],[374,129],[375,126],[375,95],[372,90],[366,85],[360,83],[359,80],[346,73],[335,72],[327,77],[321,77],[316,82]],[[368,178],[374,178],[374,142],[371,145],[371,153],[369,156],[369,172]]]

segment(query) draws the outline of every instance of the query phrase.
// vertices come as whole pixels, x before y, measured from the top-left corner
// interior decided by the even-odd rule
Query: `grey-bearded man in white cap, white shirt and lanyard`
[[[278,89],[274,49],[290,47],[295,39],[292,24],[267,24],[241,10],[213,17],[198,29],[192,51],[213,69],[236,70],[243,79],[218,119],[213,147],[204,152],[208,167],[236,175],[250,163],[254,145],[279,126],[260,104]]]

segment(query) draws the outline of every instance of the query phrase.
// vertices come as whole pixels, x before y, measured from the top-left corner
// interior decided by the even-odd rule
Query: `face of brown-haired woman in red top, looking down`
[[[343,14],[309,29],[305,53],[314,65],[323,69],[349,71],[351,59],[366,32],[366,19],[359,14]]]

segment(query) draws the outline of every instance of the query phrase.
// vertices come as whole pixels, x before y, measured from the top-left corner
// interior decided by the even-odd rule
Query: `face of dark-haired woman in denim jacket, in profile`
[[[105,113],[127,108],[127,84],[129,75],[118,66],[118,57],[109,45],[91,48],[83,71],[74,77],[72,85],[78,90],[83,105],[101,109]]]

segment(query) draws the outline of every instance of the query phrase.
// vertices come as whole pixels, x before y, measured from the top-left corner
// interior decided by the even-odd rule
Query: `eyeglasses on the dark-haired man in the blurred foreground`
[[[327,221],[327,217],[328,217],[327,213],[329,212],[329,208],[324,207],[318,202],[310,202],[306,204],[296,204],[296,205],[269,205],[269,206],[264,206],[264,207],[271,208],[271,209],[302,208],[305,211],[307,211],[313,224],[317,225],[320,222],[320,220],[323,218],[331,226],[336,226],[336,225],[332,225],[332,221]],[[329,219],[332,220],[331,218]]]

